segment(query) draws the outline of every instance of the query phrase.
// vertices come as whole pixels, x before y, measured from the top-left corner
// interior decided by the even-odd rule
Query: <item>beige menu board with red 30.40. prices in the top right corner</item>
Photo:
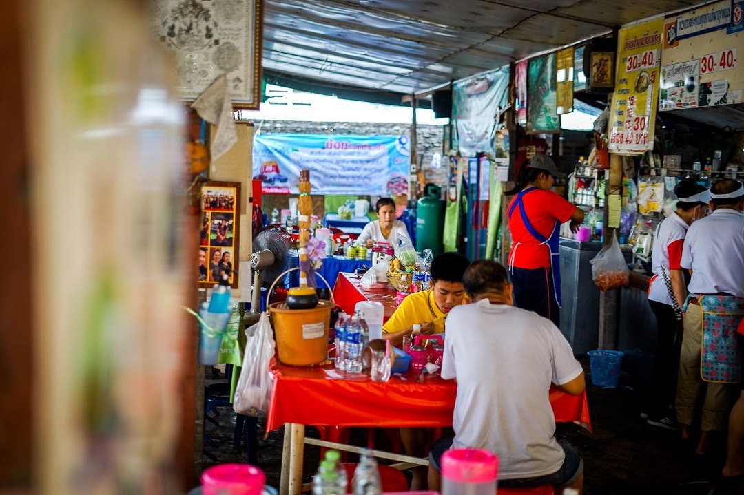
[[[744,1],[716,1],[664,19],[662,76],[664,69],[672,75],[662,83],[659,109],[740,103],[742,30]]]

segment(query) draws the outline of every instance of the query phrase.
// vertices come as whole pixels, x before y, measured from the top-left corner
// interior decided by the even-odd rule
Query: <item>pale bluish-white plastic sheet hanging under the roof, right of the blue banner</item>
[[[494,117],[507,108],[508,99],[508,66],[452,84],[452,115],[455,120],[452,149],[462,156],[493,152]]]

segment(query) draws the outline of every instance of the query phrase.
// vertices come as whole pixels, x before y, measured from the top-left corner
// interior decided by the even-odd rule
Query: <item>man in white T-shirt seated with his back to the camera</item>
[[[584,390],[584,372],[551,320],[516,308],[503,266],[473,262],[463,285],[472,304],[446,322],[442,378],[458,379],[454,439],[432,446],[429,490],[440,490],[440,458],[450,447],[490,450],[499,458],[498,485],[554,485],[583,491],[583,460],[555,439],[551,383]]]

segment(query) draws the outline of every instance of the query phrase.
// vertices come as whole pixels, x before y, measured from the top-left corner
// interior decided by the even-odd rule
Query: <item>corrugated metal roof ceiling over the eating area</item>
[[[263,68],[401,94],[609,33],[679,0],[265,0]]]

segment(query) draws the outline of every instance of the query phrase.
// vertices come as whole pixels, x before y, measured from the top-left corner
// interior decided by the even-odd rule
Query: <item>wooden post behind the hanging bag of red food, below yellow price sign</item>
[[[609,212],[609,196],[623,193],[623,157],[616,154],[609,155],[609,178],[605,184],[605,207],[603,212],[603,245],[612,242],[612,235],[618,229],[607,225]],[[616,349],[618,346],[618,327],[620,323],[620,289],[614,288],[600,292],[600,321],[599,348]]]

